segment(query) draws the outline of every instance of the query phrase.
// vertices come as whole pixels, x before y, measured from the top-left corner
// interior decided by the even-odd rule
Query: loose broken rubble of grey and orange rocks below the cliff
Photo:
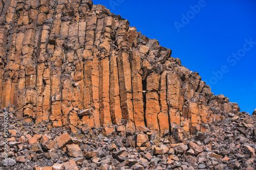
[[[25,123],[9,109],[8,166],[1,112],[0,169],[255,169],[256,116],[239,112],[188,135],[180,126],[163,136],[123,125],[70,133],[50,123]],[[169,135],[170,134],[170,135]]]

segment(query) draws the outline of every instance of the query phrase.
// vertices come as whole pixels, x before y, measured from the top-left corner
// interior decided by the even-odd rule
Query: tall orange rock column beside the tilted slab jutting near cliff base
[[[82,117],[83,124],[93,128],[100,127],[99,121],[99,64],[94,41],[96,37],[97,17],[87,20],[86,42],[84,43],[84,98],[85,109],[92,108],[92,115]]]

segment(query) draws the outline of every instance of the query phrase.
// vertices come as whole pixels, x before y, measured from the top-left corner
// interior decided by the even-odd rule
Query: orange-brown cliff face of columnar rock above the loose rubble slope
[[[90,0],[0,1],[1,108],[26,122],[191,134],[238,113],[198,72]]]

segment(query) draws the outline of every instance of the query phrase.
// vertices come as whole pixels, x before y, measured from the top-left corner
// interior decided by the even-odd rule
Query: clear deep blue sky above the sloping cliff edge
[[[252,114],[256,109],[255,0],[93,3],[120,14],[138,32],[170,48],[172,57],[199,72],[216,95],[224,94],[241,111]]]

